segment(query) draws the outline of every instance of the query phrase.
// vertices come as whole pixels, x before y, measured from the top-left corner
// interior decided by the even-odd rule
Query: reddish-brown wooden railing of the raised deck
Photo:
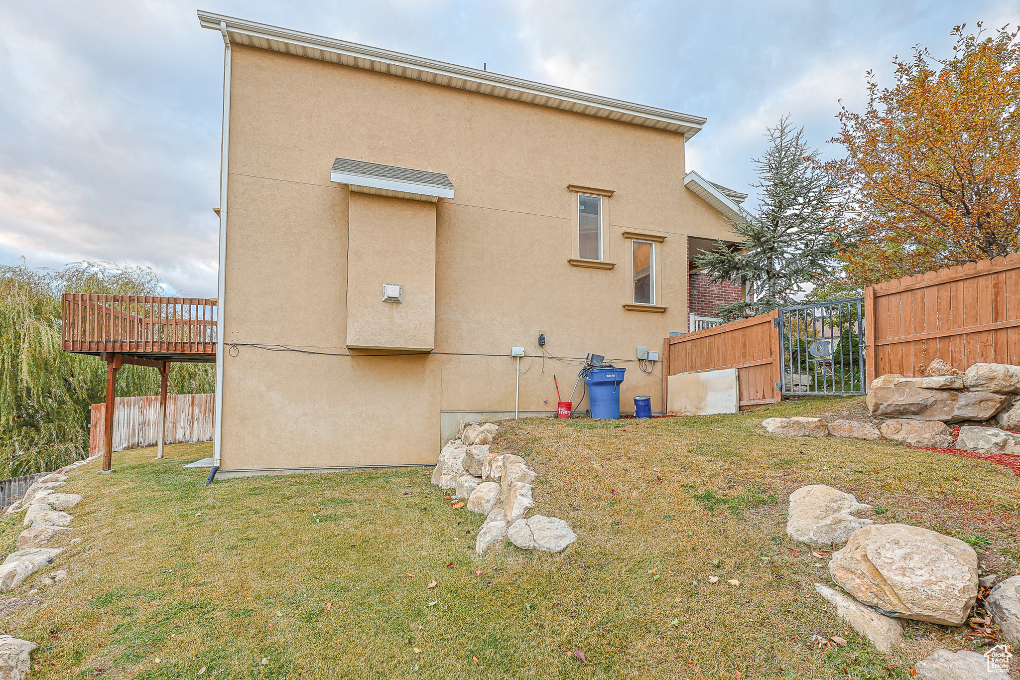
[[[63,296],[65,352],[152,358],[216,354],[216,301],[147,296]]]

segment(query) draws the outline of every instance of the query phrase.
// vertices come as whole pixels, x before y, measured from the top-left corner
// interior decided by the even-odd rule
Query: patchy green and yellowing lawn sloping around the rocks
[[[181,464],[209,444],[116,454],[116,474],[92,464],[62,489],[85,495],[83,540],[54,565],[70,578],[7,593],[3,627],[40,644],[34,678],[908,677],[934,648],[963,648],[962,629],[910,623],[902,652],[875,652],[815,594],[825,559],[785,536],[789,491],[852,491],[876,520],[966,536],[1012,574],[1020,484],[981,461],[757,426],[845,402],[504,423],[494,449],[539,470],[533,513],[580,536],[559,556],[477,558],[483,518],[452,508],[430,469],[206,487]],[[19,519],[0,527],[14,550]],[[822,655],[816,632],[850,641]]]

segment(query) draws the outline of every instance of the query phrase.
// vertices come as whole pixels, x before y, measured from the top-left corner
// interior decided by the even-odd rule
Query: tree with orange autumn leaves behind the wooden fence
[[[965,34],[952,59],[917,47],[896,86],[868,71],[864,113],[846,107],[828,170],[852,191],[845,285],[858,287],[1020,252],[1020,46],[1017,31]]]

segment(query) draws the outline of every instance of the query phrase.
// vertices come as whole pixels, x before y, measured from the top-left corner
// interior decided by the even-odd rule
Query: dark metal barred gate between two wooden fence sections
[[[783,395],[863,395],[864,299],[783,307],[779,356]]]

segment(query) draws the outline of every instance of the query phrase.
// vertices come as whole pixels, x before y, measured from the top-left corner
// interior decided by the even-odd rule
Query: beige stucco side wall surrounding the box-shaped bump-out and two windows
[[[224,359],[223,470],[434,462],[441,412],[513,411],[510,348],[533,354],[540,330],[549,355],[621,360],[623,411],[638,395],[661,410],[661,364],[646,375],[622,360],[686,328],[686,237],[728,233],[683,187],[682,135],[236,45],[230,144],[222,314],[225,342],[244,345]],[[352,194],[329,181],[338,156],[444,172],[456,198]],[[567,263],[577,256],[567,185],[615,192],[604,200],[613,269]],[[348,222],[362,208],[369,219],[366,199],[435,210],[431,354],[347,356],[348,267],[363,266]],[[623,308],[624,230],[665,237],[664,313]],[[554,373],[567,399],[579,368],[567,362],[522,360],[522,411],[555,411]]]

